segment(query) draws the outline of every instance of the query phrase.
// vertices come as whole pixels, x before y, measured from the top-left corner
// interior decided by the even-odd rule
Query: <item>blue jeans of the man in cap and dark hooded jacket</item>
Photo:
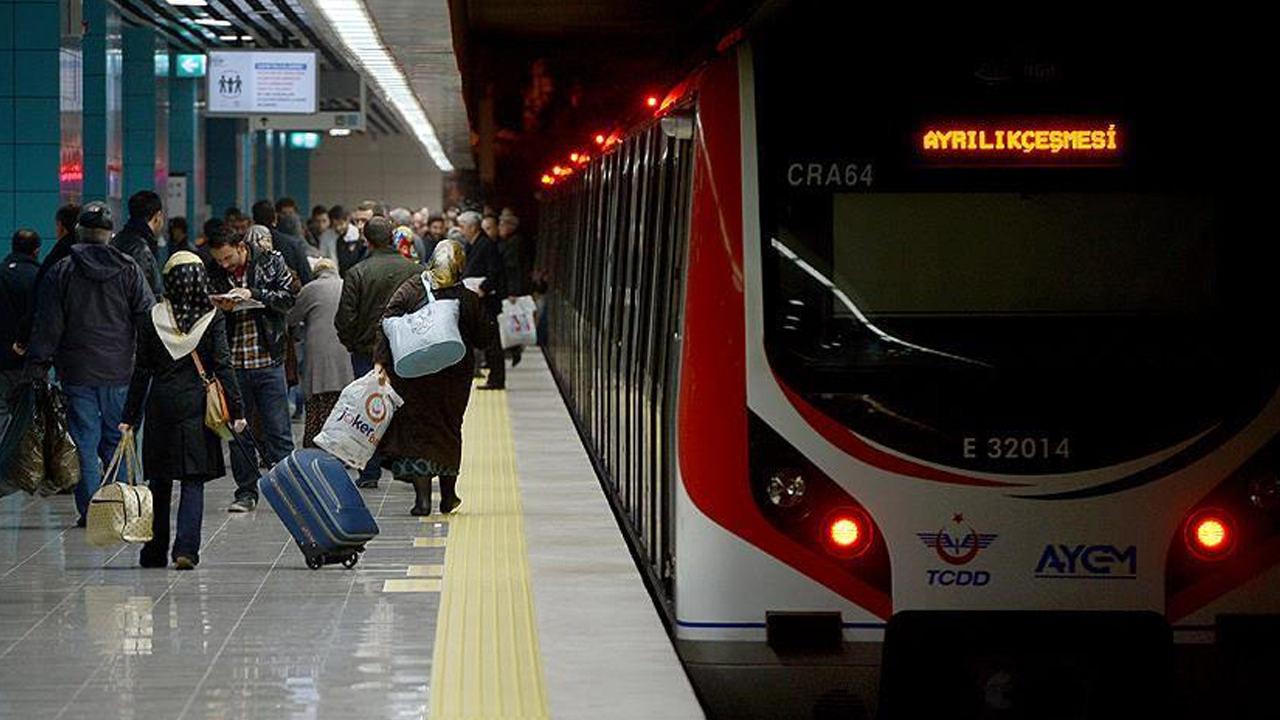
[[[120,418],[129,386],[64,384],[67,424],[76,441],[81,461],[81,482],[76,486],[76,510],[88,512],[88,501],[102,484],[102,470],[111,462],[120,443]]]

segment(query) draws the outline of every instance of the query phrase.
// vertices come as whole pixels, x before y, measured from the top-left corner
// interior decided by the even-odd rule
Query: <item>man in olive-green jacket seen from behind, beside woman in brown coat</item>
[[[333,319],[338,340],[351,351],[351,369],[357,378],[374,368],[374,345],[387,301],[404,281],[422,269],[392,249],[392,224],[387,218],[366,220],[365,242],[369,243],[369,255],[347,270],[338,313]],[[381,457],[375,452],[361,470],[357,484],[375,488],[381,474]]]

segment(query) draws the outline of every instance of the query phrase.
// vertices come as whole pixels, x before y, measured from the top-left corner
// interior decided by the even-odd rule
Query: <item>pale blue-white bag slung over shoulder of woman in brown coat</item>
[[[436,300],[425,279],[422,287],[426,288],[426,302],[421,307],[383,320],[396,374],[402,378],[438,373],[456,365],[467,354],[458,331],[458,301]]]

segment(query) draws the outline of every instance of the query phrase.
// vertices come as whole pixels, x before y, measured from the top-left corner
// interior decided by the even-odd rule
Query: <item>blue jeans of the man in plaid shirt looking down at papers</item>
[[[275,465],[293,452],[293,428],[289,420],[289,388],[284,382],[284,365],[257,370],[236,370],[236,382],[244,401],[244,418],[257,416],[262,423],[262,455]],[[232,441],[237,442],[237,441]],[[236,500],[257,500],[257,452],[246,443],[232,448],[232,474],[236,475]]]

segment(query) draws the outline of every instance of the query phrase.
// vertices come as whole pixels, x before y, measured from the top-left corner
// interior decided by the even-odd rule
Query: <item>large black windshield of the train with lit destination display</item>
[[[1123,38],[851,55],[824,27],[849,26],[753,42],[781,382],[899,452],[1010,474],[1211,447],[1274,396],[1267,202],[1208,141],[1230,73]]]

